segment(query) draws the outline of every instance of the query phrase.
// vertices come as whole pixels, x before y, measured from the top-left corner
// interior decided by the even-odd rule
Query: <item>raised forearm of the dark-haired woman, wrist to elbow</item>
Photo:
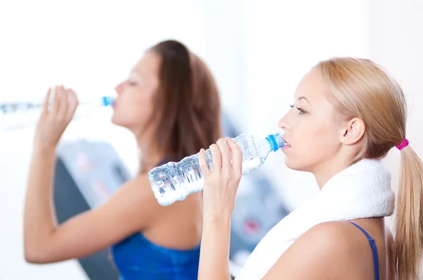
[[[25,253],[47,249],[45,241],[56,229],[51,200],[54,156],[54,148],[36,147],[32,154],[24,212]]]

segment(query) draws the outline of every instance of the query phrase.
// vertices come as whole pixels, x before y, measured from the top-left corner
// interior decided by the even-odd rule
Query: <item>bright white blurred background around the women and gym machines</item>
[[[422,34],[422,0],[1,1],[0,104],[42,102],[56,84],[72,87],[81,103],[114,96],[145,49],[177,39],[211,68],[232,132],[266,136],[279,132],[276,124],[312,65],[358,56],[400,82],[410,113],[407,139],[422,156]],[[63,142],[108,144],[135,174],[132,135],[111,125],[111,109],[82,107]],[[23,201],[38,113],[0,113],[0,279],[87,279],[76,260],[29,265],[23,257]],[[385,163],[396,188],[399,152]],[[318,191],[310,174],[285,167],[282,153],[271,154],[258,171],[286,212]],[[257,174],[243,181],[254,182]]]

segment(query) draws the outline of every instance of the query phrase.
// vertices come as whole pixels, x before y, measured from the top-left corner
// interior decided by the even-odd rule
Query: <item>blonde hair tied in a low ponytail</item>
[[[332,58],[315,67],[329,85],[338,117],[360,117],[364,144],[353,162],[384,158],[405,139],[407,106],[402,89],[367,59]],[[420,279],[423,246],[423,164],[415,151],[401,150],[393,266],[399,280]]]

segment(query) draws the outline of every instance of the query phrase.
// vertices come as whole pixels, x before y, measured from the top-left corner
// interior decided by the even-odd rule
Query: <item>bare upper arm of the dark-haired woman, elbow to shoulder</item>
[[[107,248],[149,226],[158,208],[147,176],[127,182],[104,205],[57,227],[42,248],[42,262],[83,257]]]

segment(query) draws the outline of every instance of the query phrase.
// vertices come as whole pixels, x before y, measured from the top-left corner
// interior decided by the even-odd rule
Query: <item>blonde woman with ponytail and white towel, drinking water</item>
[[[422,279],[423,167],[406,139],[397,82],[372,61],[333,58],[302,78],[291,107],[278,123],[285,163],[312,172],[321,191],[269,231],[237,279]],[[384,217],[393,214],[395,195],[381,163],[391,148],[401,153],[394,235]],[[231,139],[211,149],[212,171],[200,152],[201,280],[229,279],[230,217],[242,163]]]

